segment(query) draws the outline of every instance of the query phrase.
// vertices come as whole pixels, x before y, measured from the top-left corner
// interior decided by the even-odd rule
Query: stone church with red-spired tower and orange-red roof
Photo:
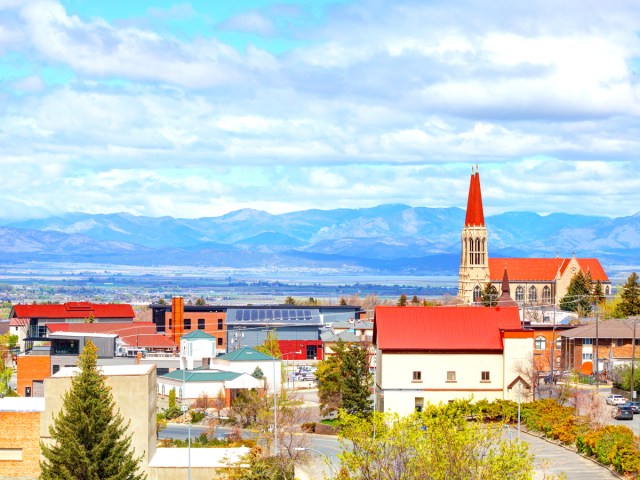
[[[573,276],[582,271],[602,283],[605,295],[611,294],[611,282],[597,258],[489,258],[487,226],[484,222],[480,173],[471,172],[458,276],[458,299],[465,304],[479,301],[489,282],[498,292],[505,270],[509,294],[519,305],[558,305],[567,293]]]

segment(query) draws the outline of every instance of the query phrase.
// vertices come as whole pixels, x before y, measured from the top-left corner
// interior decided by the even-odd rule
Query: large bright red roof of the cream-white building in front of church
[[[502,350],[501,330],[521,330],[517,307],[376,307],[380,350]]]

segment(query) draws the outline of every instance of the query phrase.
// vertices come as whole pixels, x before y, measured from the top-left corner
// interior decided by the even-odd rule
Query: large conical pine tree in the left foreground
[[[128,424],[114,413],[111,390],[97,370],[97,349],[87,341],[80,373],[71,380],[62,409],[49,427],[52,443],[41,443],[43,480],[141,480],[141,458],[134,457]]]

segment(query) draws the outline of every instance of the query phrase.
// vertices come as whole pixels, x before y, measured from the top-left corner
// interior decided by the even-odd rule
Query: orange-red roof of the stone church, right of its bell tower
[[[609,282],[597,258],[576,258],[583,272],[591,272],[593,281]],[[509,280],[514,282],[552,282],[558,273],[567,269],[570,258],[489,258],[489,278],[492,282],[502,279],[506,268]]]

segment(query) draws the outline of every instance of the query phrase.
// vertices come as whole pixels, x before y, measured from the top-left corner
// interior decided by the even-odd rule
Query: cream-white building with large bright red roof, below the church
[[[376,409],[406,415],[456,399],[528,400],[533,355],[517,305],[376,307]]]

